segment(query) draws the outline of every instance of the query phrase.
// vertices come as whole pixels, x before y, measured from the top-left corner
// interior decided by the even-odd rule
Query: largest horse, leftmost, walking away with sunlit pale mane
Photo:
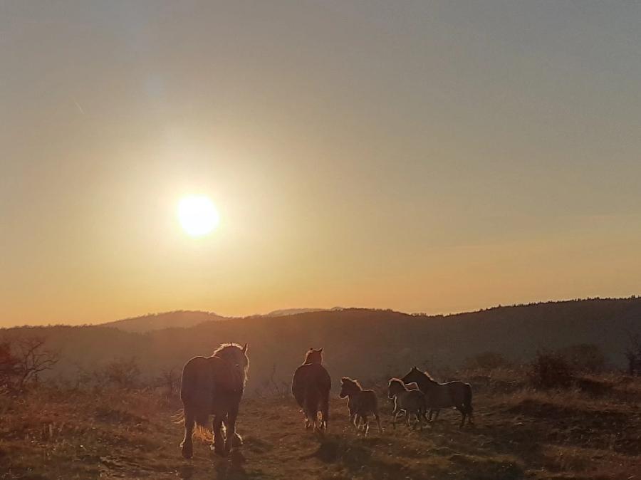
[[[220,345],[211,357],[194,357],[184,365],[180,385],[184,418],[180,447],[184,458],[193,454],[194,426],[207,429],[210,414],[214,415],[214,452],[224,456],[231,447],[241,446],[236,417],[248,372],[247,344],[242,348],[235,343]]]

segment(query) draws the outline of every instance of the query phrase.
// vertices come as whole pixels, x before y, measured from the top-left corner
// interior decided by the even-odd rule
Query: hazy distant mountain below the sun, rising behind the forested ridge
[[[143,333],[164,328],[188,328],[199,323],[219,320],[228,320],[228,318],[212,312],[179,310],[115,320],[115,322],[101,323],[100,326],[118,328],[125,332]]]

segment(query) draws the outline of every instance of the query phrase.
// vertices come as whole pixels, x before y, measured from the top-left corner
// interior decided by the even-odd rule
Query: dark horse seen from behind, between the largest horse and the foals
[[[323,367],[323,349],[310,348],[305,355],[305,362],[296,369],[291,380],[291,392],[303,409],[305,429],[327,431],[329,420],[329,393],[332,379]],[[318,413],[320,412],[320,424]]]

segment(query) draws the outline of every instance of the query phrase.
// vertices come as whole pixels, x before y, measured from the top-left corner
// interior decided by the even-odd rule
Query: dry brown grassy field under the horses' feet
[[[4,479],[641,479],[641,380],[583,378],[567,390],[536,391],[514,372],[466,372],[476,424],[442,412],[423,432],[355,434],[343,400],[330,428],[303,429],[291,398],[241,404],[244,446],[229,458],[204,441],[182,459],[177,395],[162,390],[75,390],[41,385],[1,397],[0,476]]]

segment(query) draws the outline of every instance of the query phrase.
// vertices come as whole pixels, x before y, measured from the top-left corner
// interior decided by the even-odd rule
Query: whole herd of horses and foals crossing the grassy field
[[[180,398],[182,400],[182,421],[184,439],[182,456],[189,459],[193,454],[192,436],[194,428],[209,428],[209,415],[214,416],[214,452],[226,455],[232,447],[242,444],[241,436],[236,433],[236,417],[244,392],[249,357],[247,345],[235,343],[220,345],[211,357],[194,357],[182,369]],[[314,432],[327,430],[329,419],[329,396],[332,387],[331,377],[323,366],[323,349],[310,348],[305,361],[294,372],[291,392],[303,410],[306,429]],[[340,379],[340,397],[348,398],[350,424],[368,434],[370,417],[380,425],[378,399],[374,390],[363,390],[358,380],[350,377]],[[454,381],[436,382],[427,372],[412,367],[401,378],[391,378],[387,385],[387,395],[394,401],[392,425],[396,427],[399,415],[410,427],[410,416],[415,417],[414,428],[423,429],[423,421],[431,422],[438,417],[442,408],[455,407],[465,420],[473,422],[471,387],[468,383]]]

